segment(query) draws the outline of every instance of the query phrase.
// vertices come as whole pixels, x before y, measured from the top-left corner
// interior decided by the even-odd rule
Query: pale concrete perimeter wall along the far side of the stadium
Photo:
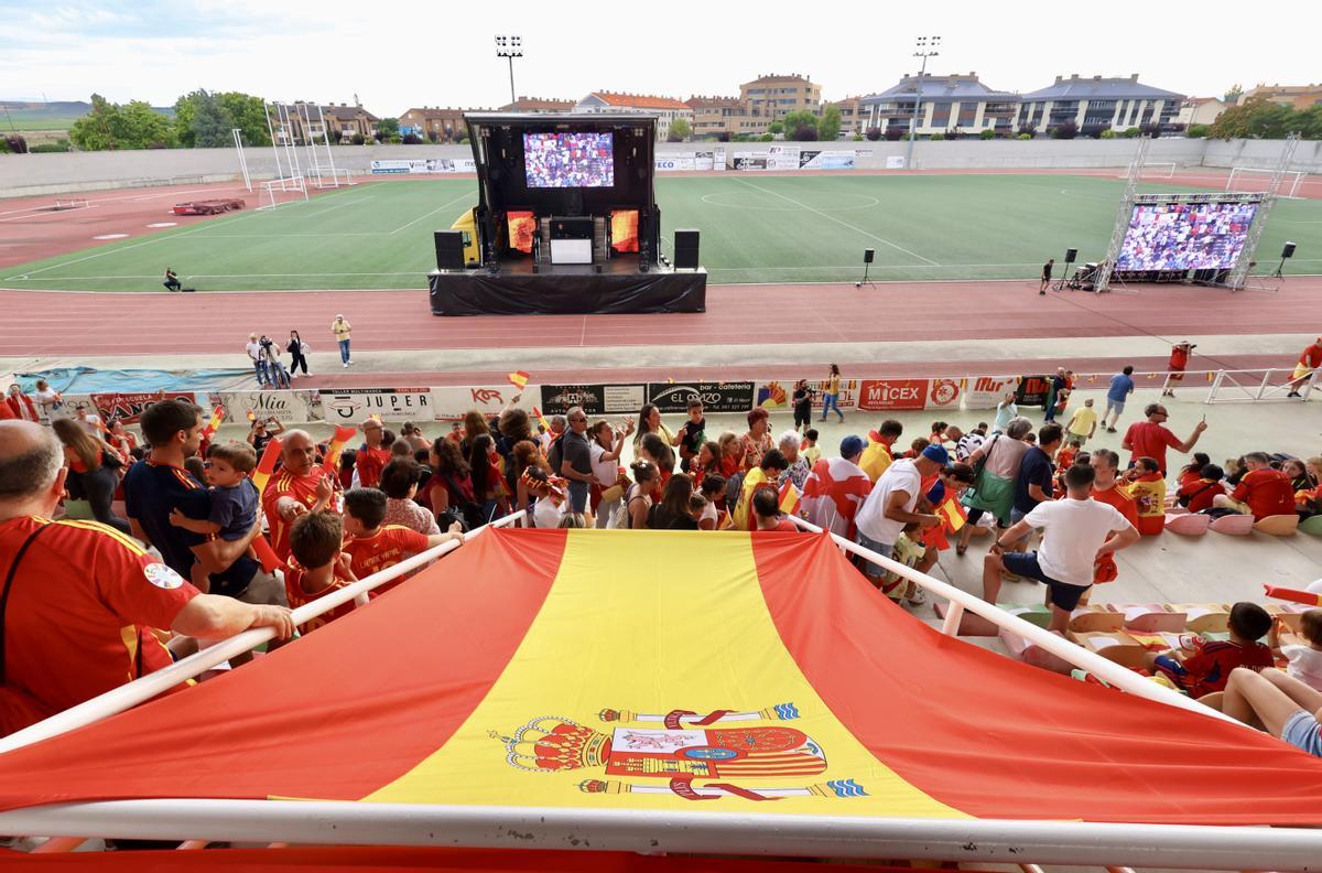
[[[693,152],[707,144],[662,143],[657,157]],[[727,160],[736,151],[758,151],[765,143],[722,143]],[[805,148],[870,152],[858,160],[862,169],[884,169],[888,157],[903,157],[904,142],[802,143]],[[1125,167],[1137,143],[1132,139],[1072,140],[920,140],[914,163],[919,169],[1089,169]],[[1272,167],[1281,153],[1280,140],[1158,139],[1149,160],[1190,167]],[[325,149],[320,152],[320,160]],[[374,160],[471,157],[468,146],[338,146],[336,167],[366,176]],[[247,149],[254,179],[274,179],[275,155],[270,147]],[[282,157],[283,160],[283,157]],[[300,153],[304,161],[305,155]],[[1322,142],[1300,143],[1294,167],[1322,172]],[[116,152],[57,152],[0,156],[0,197],[61,194],[69,192],[186,185],[234,181],[239,177],[233,148],[177,148]]]

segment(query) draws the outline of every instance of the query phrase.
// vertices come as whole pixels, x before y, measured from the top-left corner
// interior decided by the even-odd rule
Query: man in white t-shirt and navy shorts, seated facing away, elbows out
[[[995,603],[1003,570],[1047,585],[1051,624],[1064,632],[1079,598],[1092,586],[1097,558],[1138,542],[1138,530],[1114,507],[1091,500],[1092,467],[1075,466],[1066,471],[1064,500],[1046,500],[1023,520],[997,537],[982,562],[982,599]],[[1006,552],[1034,528],[1042,529],[1036,552]],[[1112,533],[1117,536],[1110,537]],[[1108,540],[1108,537],[1110,537]]]

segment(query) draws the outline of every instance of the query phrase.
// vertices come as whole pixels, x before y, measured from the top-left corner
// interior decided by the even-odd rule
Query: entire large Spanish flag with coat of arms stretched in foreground
[[[222,679],[0,757],[0,807],[334,799],[1322,824],[1322,759],[941,636],[825,536],[489,530]]]

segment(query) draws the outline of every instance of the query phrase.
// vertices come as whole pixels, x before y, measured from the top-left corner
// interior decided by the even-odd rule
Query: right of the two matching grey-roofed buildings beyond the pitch
[[[1017,127],[1044,134],[1073,122],[1083,135],[1145,124],[1174,128],[1183,102],[1183,94],[1144,85],[1137,73],[1129,78],[1085,78],[1075,73],[1021,95]]]

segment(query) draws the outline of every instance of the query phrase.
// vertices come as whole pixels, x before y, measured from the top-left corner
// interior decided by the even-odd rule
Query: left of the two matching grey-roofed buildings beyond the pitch
[[[915,103],[919,136],[952,131],[966,136],[978,136],[982,131],[1009,135],[1014,128],[1019,97],[988,87],[978,81],[977,73],[923,75],[921,81],[917,75],[904,75],[884,91],[858,101],[859,127],[875,127],[883,135],[898,128],[908,135],[914,126]]]

